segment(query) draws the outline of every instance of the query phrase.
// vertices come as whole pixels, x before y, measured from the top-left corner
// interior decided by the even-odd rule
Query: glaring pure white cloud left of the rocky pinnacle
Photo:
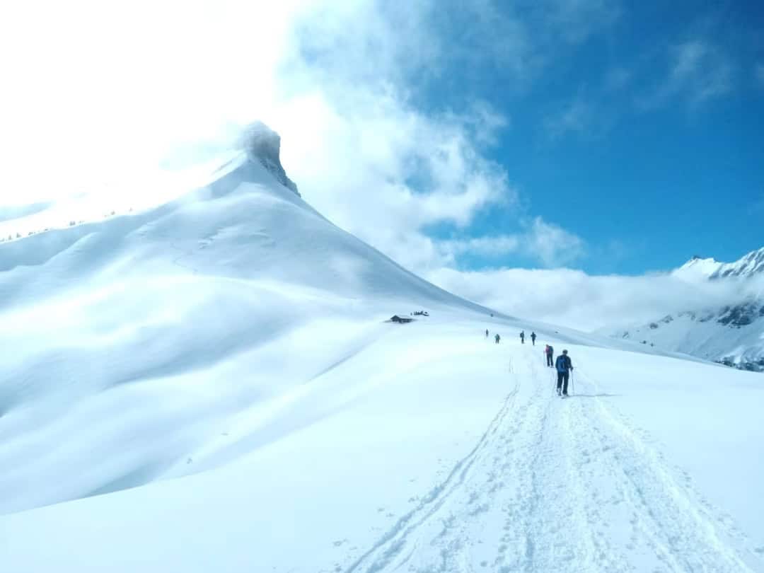
[[[267,111],[296,2],[4,6],[0,202],[140,180],[189,139]],[[41,18],[40,15],[45,15]],[[134,189],[140,193],[140,189]]]

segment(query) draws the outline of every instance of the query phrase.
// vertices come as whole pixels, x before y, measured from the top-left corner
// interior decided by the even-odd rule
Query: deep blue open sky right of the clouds
[[[764,246],[764,5],[571,2],[583,14],[571,8],[563,19],[523,4],[536,6],[497,8],[494,37],[476,43],[465,32],[484,53],[453,53],[424,76],[421,97],[432,108],[481,99],[507,118],[485,153],[507,170],[529,217],[585,242],[568,264],[641,274]],[[532,36],[522,70],[490,52],[517,23]],[[462,39],[464,21],[442,25]],[[492,207],[468,234],[522,224]],[[522,253],[465,253],[458,263],[539,266]]]

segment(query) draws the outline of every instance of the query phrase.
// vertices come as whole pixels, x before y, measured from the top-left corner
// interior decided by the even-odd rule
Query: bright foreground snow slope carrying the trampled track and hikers
[[[348,340],[342,364],[219,422],[189,464],[214,439],[248,455],[5,516],[0,557],[24,572],[764,571],[755,374],[571,346],[575,396],[559,400],[539,348],[494,345],[484,324]]]

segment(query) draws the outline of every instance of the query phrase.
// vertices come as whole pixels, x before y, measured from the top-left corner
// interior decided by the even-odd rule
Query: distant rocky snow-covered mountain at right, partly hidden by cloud
[[[730,282],[741,286],[764,277],[764,248],[734,263],[693,257],[674,271],[683,280]],[[734,283],[732,282],[734,281]],[[616,329],[614,336],[645,345],[685,352],[749,371],[764,371],[764,290],[745,296],[730,289],[730,303],[704,309],[680,309],[646,325]]]

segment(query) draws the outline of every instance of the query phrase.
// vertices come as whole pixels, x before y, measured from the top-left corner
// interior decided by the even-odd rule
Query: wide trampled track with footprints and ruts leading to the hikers
[[[335,571],[764,571],[595,380],[576,371],[585,395],[560,400],[552,369],[523,358],[510,361],[512,390],[472,451]]]

